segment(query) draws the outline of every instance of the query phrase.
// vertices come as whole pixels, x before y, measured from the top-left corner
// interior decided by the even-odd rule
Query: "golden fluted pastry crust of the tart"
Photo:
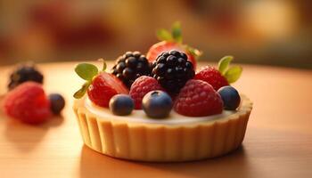
[[[113,158],[148,162],[182,162],[214,158],[237,149],[244,138],[252,109],[242,105],[232,115],[192,124],[161,125],[95,116],[85,98],[73,107],[86,146]]]

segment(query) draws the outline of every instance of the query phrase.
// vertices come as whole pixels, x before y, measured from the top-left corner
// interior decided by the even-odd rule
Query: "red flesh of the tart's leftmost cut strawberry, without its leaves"
[[[127,87],[112,74],[102,72],[94,77],[87,89],[89,99],[94,104],[108,108],[111,97],[119,93],[128,93]]]

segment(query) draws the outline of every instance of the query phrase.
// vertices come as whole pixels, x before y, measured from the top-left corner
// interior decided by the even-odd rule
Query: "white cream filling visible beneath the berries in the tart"
[[[144,113],[144,110],[133,110],[132,113],[127,116],[116,116],[111,113],[110,109],[106,109],[106,108],[102,108],[102,107],[98,107],[94,105],[94,103],[90,101],[87,97],[85,100],[85,106],[86,106],[86,109],[88,109],[91,113],[93,113],[96,116],[103,117],[103,118],[127,120],[131,122],[140,122],[140,123],[148,123],[148,124],[166,124],[166,125],[211,121],[211,120],[216,120],[221,117],[227,117],[236,112],[234,110],[223,110],[221,114],[212,115],[208,117],[185,117],[183,115],[178,114],[172,109],[168,117],[155,119],[155,118],[147,117],[146,114]]]

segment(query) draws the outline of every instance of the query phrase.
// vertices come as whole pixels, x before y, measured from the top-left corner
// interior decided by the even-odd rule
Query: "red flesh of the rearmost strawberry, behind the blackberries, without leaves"
[[[193,63],[193,68],[196,69],[196,60],[195,57],[187,53],[187,51],[181,46],[181,44],[177,44],[174,42],[162,41],[157,44],[153,44],[148,53],[146,54],[146,58],[148,61],[153,62],[156,60],[157,56],[162,52],[169,52],[171,50],[177,50],[179,52],[186,53],[187,59]]]

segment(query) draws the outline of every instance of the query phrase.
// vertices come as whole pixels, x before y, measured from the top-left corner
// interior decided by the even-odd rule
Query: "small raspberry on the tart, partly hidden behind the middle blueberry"
[[[142,100],[146,93],[154,90],[164,90],[153,77],[138,77],[130,88],[130,96],[135,101],[135,109],[142,109]]]

